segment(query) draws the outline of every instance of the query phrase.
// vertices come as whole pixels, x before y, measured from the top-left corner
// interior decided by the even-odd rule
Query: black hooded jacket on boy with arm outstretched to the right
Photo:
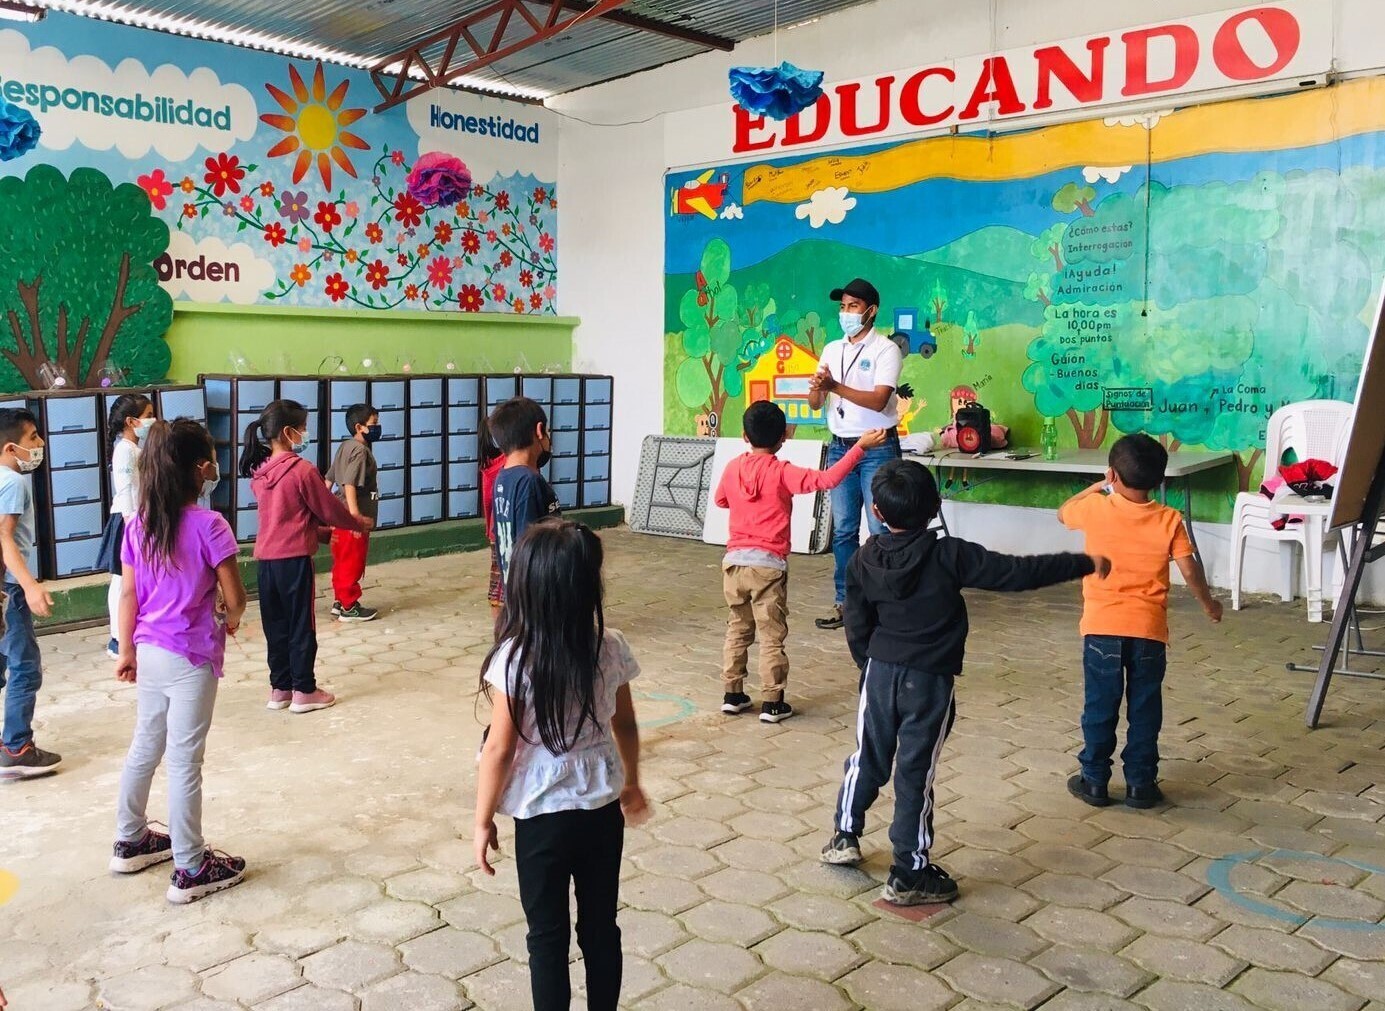
[[[996,554],[932,530],[881,533],[846,566],[846,644],[867,659],[960,674],[967,648],[963,587],[1037,590],[1091,575],[1084,554]]]

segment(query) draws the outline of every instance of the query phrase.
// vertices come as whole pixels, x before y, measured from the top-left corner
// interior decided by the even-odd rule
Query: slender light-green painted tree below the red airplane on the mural
[[[716,418],[712,435],[717,433],[727,399],[740,396],[744,388],[735,366],[745,331],[737,319],[740,299],[727,283],[730,277],[731,247],[713,238],[702,251],[694,287],[679,303],[687,359],[674,374],[674,386],[686,407]]]

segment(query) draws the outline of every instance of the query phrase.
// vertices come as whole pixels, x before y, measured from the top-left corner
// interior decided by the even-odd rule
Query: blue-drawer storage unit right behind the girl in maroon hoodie
[[[307,409],[307,449],[303,457],[323,469],[327,415],[323,381],[317,377],[202,375],[206,392],[206,427],[216,443],[216,465],[222,482],[212,493],[212,508],[231,524],[237,540],[255,540],[259,511],[249,478],[237,472],[245,428],[259,420],[271,400],[296,400]]]

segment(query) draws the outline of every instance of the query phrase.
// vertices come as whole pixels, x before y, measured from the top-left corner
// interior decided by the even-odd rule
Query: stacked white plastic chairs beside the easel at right
[[[1265,472],[1276,474],[1284,453],[1289,449],[1299,460],[1327,460],[1341,467],[1346,453],[1346,438],[1350,433],[1350,420],[1352,404],[1342,400],[1303,400],[1274,411],[1265,432]],[[1325,529],[1325,510],[1312,510],[1305,522],[1287,524],[1283,530],[1276,530],[1271,521],[1281,515],[1271,508],[1270,500],[1258,492],[1241,492],[1235,496],[1231,522],[1231,608],[1241,609],[1245,542],[1255,537],[1280,544],[1299,544],[1303,548],[1303,589],[1309,620],[1323,620],[1323,548],[1335,547],[1338,536]],[[1292,558],[1284,561],[1284,589],[1280,597],[1291,601],[1294,600]]]

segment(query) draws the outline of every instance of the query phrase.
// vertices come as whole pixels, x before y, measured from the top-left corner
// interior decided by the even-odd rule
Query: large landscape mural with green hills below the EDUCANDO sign
[[[1144,431],[1228,450],[1228,518],[1270,413],[1355,392],[1385,277],[1385,80],[666,183],[669,433],[734,435],[773,399],[823,438],[806,377],[839,337],[827,292],[861,276],[909,341],[915,431],[970,388],[1018,445],[1058,418],[1069,447]],[[963,496],[1066,490],[1001,476]]]

